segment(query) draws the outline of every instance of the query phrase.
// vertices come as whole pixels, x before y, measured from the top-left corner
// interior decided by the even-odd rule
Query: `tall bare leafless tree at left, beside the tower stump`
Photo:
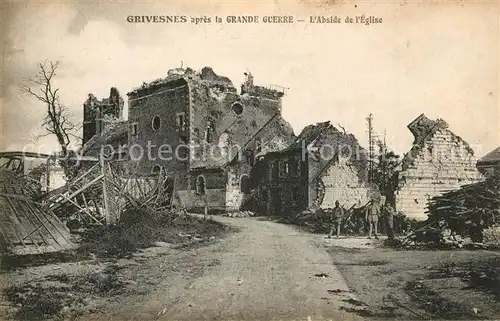
[[[38,138],[54,135],[61,148],[63,161],[61,165],[69,174],[68,156],[73,153],[70,150],[71,137],[75,136],[77,126],[71,121],[71,113],[59,97],[59,88],[54,87],[54,79],[59,68],[59,61],[43,61],[38,64],[37,74],[29,78],[21,85],[23,93],[29,94],[45,105],[46,113],[43,118],[42,127],[45,133]]]

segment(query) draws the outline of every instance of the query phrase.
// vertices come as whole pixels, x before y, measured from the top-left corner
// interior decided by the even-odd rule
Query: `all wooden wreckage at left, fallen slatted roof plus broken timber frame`
[[[24,164],[18,156],[9,154],[0,168],[1,250],[15,254],[67,250],[75,247],[71,229],[115,224],[130,206],[152,211],[171,207],[175,178],[164,171],[125,177],[118,162],[80,157],[80,175],[44,192],[43,179],[19,170]]]

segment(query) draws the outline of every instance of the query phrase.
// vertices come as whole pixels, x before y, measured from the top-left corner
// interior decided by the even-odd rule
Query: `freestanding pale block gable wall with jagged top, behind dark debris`
[[[396,209],[410,218],[424,220],[432,197],[477,182],[482,176],[472,148],[451,132],[444,120],[431,120],[421,114],[408,128],[415,139],[402,161]]]

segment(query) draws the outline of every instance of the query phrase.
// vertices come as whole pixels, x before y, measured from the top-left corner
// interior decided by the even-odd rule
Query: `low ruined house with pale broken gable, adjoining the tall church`
[[[364,205],[373,190],[367,184],[366,151],[352,134],[330,122],[309,125],[288,147],[259,159],[253,171],[257,208],[264,214],[292,215],[306,209]]]

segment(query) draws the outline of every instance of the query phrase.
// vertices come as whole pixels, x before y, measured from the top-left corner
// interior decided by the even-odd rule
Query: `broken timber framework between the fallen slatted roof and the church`
[[[53,191],[47,207],[78,225],[115,224],[130,204],[153,210],[170,207],[175,179],[160,171],[150,177],[124,177],[119,163],[87,159],[82,174]],[[140,205],[138,205],[140,204]]]

